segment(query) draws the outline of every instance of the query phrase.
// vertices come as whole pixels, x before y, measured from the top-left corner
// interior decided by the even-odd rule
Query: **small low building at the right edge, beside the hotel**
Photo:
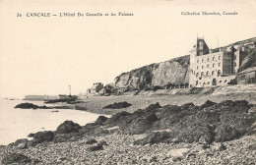
[[[248,68],[237,74],[238,84],[256,83],[256,67]]]

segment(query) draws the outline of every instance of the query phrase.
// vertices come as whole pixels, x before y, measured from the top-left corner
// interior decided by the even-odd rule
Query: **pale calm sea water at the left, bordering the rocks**
[[[100,115],[73,109],[14,108],[24,102],[43,105],[42,101],[0,99],[0,145],[7,145],[19,138],[28,138],[31,133],[55,131],[66,120],[85,126],[95,122]],[[56,110],[58,112],[52,112]]]

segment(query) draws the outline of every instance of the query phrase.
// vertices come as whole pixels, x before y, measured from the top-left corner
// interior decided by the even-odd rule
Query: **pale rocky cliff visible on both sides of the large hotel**
[[[224,46],[224,48],[231,45],[240,48],[244,47],[240,53],[240,71],[256,66],[255,43],[256,37],[253,37]],[[144,66],[116,77],[114,85],[117,87],[128,87],[128,90],[132,90],[148,89],[157,85],[188,84],[189,61],[189,55],[186,55],[158,64]]]

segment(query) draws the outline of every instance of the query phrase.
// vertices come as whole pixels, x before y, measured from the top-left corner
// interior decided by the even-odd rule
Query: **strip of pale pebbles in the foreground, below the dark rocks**
[[[19,149],[0,147],[0,157],[8,152],[18,152],[37,164],[250,164],[256,162],[256,138],[253,136],[224,142],[226,149],[219,150],[220,143],[204,149],[199,143],[159,143],[134,145],[141,136],[120,134],[94,137],[105,140],[103,150],[88,151],[95,144],[86,144],[88,138],[63,143],[42,143],[34,148]]]

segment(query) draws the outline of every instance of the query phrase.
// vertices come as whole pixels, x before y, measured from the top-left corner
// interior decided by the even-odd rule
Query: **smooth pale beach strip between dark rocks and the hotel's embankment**
[[[256,104],[256,94],[251,93],[233,93],[225,95],[212,95],[212,94],[174,94],[174,95],[111,95],[111,96],[95,96],[84,98],[82,101],[85,103],[75,104],[79,106],[81,111],[87,111],[102,115],[113,115],[118,112],[134,112],[138,109],[144,109],[151,104],[157,102],[160,105],[182,105],[185,103],[194,103],[195,105],[202,105],[207,100],[220,103],[224,100],[247,100],[250,104]],[[103,109],[104,106],[113,104],[114,102],[126,101],[131,103],[132,106],[122,109]],[[64,104],[66,105],[66,104]]]

